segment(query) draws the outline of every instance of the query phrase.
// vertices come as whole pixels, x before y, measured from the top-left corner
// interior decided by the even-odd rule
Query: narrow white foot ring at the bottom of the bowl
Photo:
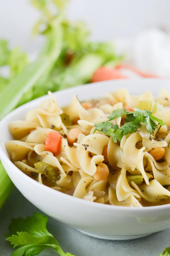
[[[148,236],[150,234],[143,234],[143,235],[133,235],[133,236],[112,236],[112,235],[100,235],[100,234],[95,234],[95,233],[89,233],[89,232],[84,232],[82,230],[79,230],[81,233],[87,235],[87,236],[93,236],[95,238],[100,238],[100,239],[106,239],[106,240],[130,240],[130,239],[137,239],[137,238],[141,238],[144,236]]]

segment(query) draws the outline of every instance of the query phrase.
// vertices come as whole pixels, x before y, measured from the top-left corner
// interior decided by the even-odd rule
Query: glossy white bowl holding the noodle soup
[[[105,93],[127,88],[130,93],[139,94],[146,90],[158,94],[160,88],[169,90],[170,81],[161,79],[135,79],[105,81],[78,86],[54,93],[61,106],[69,104],[73,95],[80,100],[103,97]],[[12,139],[8,124],[24,119],[28,110],[36,108],[48,96],[33,100],[8,114],[1,122],[0,159],[15,186],[44,213],[98,238],[125,240],[139,238],[170,227],[170,204],[132,208],[89,202],[34,181],[20,171],[10,160],[4,142]]]

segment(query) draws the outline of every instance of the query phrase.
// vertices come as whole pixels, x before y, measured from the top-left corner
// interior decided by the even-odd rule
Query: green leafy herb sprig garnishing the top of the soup
[[[127,135],[133,132],[136,132],[138,128],[142,126],[142,123],[146,124],[146,130],[148,133],[152,134],[157,128],[158,125],[155,123],[158,122],[160,125],[165,125],[161,119],[158,119],[155,116],[152,116],[152,112],[140,110],[134,108],[134,111],[127,111],[125,108],[113,110],[108,121],[103,123],[95,124],[95,131],[102,131],[106,135],[110,136],[112,140],[116,143],[121,141],[123,135]],[[118,127],[116,124],[112,124],[111,121],[118,117],[124,117],[124,125]]]

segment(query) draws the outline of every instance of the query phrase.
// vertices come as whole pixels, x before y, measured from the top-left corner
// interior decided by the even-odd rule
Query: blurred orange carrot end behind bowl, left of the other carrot
[[[92,83],[105,81],[105,80],[112,80],[112,79],[124,79],[124,78],[128,78],[128,77],[120,74],[120,72],[116,69],[101,67],[94,72],[92,77]]]

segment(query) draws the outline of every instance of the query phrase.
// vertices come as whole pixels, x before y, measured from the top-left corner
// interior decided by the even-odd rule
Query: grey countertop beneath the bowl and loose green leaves
[[[0,256],[10,256],[14,251],[3,236],[4,233],[8,233],[10,219],[31,216],[35,211],[39,210],[14,188],[0,210]],[[135,240],[109,241],[86,236],[50,217],[47,228],[65,252],[77,256],[158,256],[170,245],[170,229]],[[52,256],[57,253],[52,249],[46,249],[39,255]]]

